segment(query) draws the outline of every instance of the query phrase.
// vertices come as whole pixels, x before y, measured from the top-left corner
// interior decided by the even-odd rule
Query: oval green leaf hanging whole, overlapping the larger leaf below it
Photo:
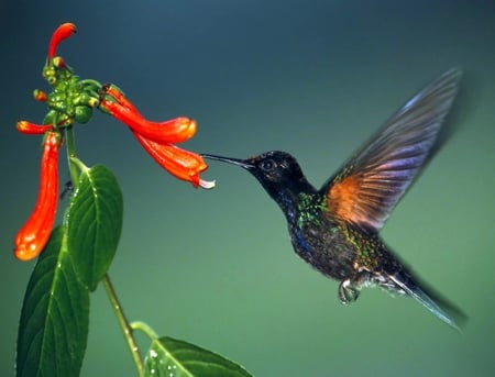
[[[82,170],[66,217],[67,241],[77,275],[91,291],[116,255],[122,217],[122,193],[113,174],[101,165]]]

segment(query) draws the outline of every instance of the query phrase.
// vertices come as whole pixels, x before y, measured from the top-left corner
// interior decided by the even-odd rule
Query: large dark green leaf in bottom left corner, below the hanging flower
[[[65,228],[55,229],[31,275],[19,324],[16,376],[78,376],[86,351],[89,291],[74,270]]]

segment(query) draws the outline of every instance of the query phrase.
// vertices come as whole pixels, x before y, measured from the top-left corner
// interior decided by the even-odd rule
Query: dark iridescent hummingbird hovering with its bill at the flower
[[[286,152],[246,159],[202,157],[246,169],[285,214],[294,251],[338,281],[342,303],[363,287],[409,296],[460,331],[447,300],[420,284],[380,236],[388,215],[426,165],[452,108],[462,73],[450,69],[407,101],[318,190]]]

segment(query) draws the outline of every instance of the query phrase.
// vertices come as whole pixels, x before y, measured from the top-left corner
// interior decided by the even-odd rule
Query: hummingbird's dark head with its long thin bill
[[[256,177],[276,201],[279,201],[283,192],[297,195],[301,190],[307,190],[310,186],[296,158],[286,152],[270,151],[245,159],[207,154],[204,154],[202,157],[243,167]]]

